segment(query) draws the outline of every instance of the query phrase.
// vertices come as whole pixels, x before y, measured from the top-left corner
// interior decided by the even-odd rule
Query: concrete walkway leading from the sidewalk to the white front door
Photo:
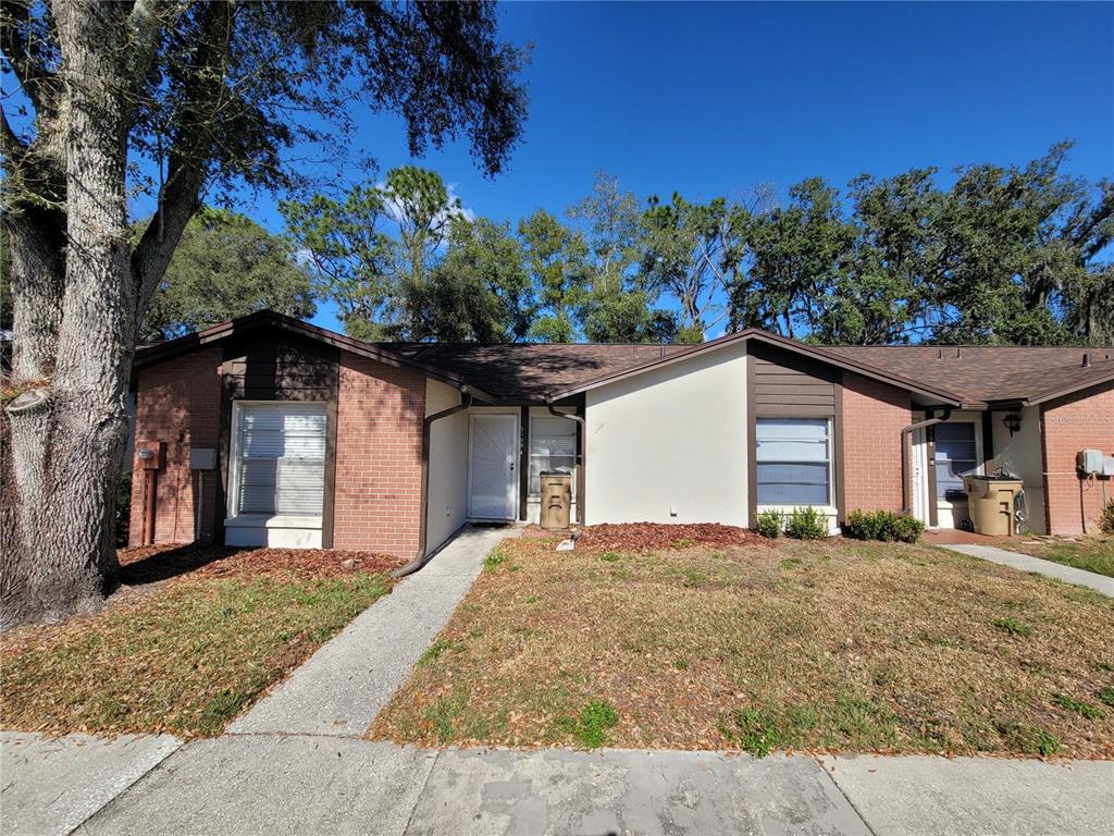
[[[514,527],[467,527],[420,572],[358,615],[227,729],[229,735],[360,737]]]

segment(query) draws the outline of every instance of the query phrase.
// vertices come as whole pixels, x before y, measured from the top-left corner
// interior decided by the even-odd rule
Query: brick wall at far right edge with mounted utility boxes
[[[1107,498],[1114,498],[1114,479],[1081,477],[1075,454],[1089,447],[1114,455],[1114,383],[1044,405],[1040,430],[1048,531],[1081,534],[1084,519],[1088,532],[1096,531],[1103,483]]]

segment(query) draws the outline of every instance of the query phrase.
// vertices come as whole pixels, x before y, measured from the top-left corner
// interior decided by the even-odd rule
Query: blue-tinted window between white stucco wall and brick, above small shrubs
[[[831,504],[827,418],[759,418],[759,505]]]

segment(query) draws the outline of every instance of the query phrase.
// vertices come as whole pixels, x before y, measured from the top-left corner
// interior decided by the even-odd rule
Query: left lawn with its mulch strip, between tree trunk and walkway
[[[0,728],[217,735],[390,589],[364,553],[153,547],[96,615],[0,638]]]

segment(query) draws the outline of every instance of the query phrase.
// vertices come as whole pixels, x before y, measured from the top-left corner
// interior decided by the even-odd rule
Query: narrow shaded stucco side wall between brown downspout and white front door
[[[460,404],[451,386],[426,379],[426,415]],[[468,505],[468,412],[433,421],[429,447],[426,547],[437,548],[465,524]]]

